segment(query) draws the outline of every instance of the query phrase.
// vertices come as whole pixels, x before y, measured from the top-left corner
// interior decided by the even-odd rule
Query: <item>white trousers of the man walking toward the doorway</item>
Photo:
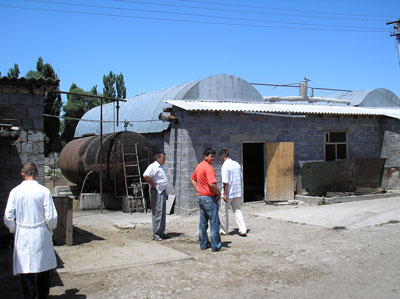
[[[219,210],[220,222],[221,222],[221,233],[227,234],[229,232],[229,208],[232,207],[233,214],[235,215],[236,224],[239,228],[239,234],[245,234],[247,232],[246,224],[244,223],[243,213],[240,209],[242,203],[241,197],[228,198],[225,202],[223,199],[220,200],[221,208]]]

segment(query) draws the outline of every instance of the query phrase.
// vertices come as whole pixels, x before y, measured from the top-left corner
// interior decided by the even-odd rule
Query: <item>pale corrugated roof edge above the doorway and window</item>
[[[166,103],[187,111],[264,112],[277,114],[382,115],[400,119],[400,108],[179,100],[167,100]]]

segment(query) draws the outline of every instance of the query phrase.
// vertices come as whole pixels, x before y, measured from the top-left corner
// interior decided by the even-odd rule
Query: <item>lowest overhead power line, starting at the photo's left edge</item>
[[[16,9],[24,9],[24,10],[34,10],[34,11],[48,11],[48,12],[71,13],[71,14],[82,14],[82,15],[96,15],[96,16],[106,16],[106,17],[129,18],[129,19],[154,20],[154,21],[184,22],[184,23],[207,24],[207,25],[224,25],[224,26],[235,26],[235,27],[255,27],[255,28],[274,28],[274,29],[312,30],[312,31],[334,31],[334,32],[338,32],[338,31],[340,31],[340,32],[376,32],[376,33],[378,33],[378,32],[387,32],[387,30],[352,30],[352,29],[329,29],[329,28],[304,28],[304,27],[288,27],[288,26],[267,26],[267,25],[243,24],[243,23],[210,22],[210,21],[200,21],[200,20],[156,18],[156,17],[120,15],[120,14],[111,14],[111,13],[73,11],[73,10],[65,10],[65,9],[34,8],[34,7],[24,7],[24,6],[16,6],[16,5],[0,5],[0,7],[16,8]]]

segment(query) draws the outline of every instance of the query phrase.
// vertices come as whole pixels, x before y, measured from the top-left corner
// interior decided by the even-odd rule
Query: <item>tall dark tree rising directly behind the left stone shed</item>
[[[42,57],[38,58],[36,70],[30,70],[26,73],[26,78],[51,78],[58,79],[56,72],[49,63],[43,64]],[[44,117],[44,153],[59,152],[61,150],[60,139],[60,116],[62,100],[60,94],[48,94],[44,102],[44,113],[56,117]]]

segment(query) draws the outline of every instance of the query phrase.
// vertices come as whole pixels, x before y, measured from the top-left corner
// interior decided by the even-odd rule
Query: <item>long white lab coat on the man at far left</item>
[[[11,190],[4,223],[15,233],[14,275],[57,267],[52,241],[57,210],[49,189],[26,180]]]

